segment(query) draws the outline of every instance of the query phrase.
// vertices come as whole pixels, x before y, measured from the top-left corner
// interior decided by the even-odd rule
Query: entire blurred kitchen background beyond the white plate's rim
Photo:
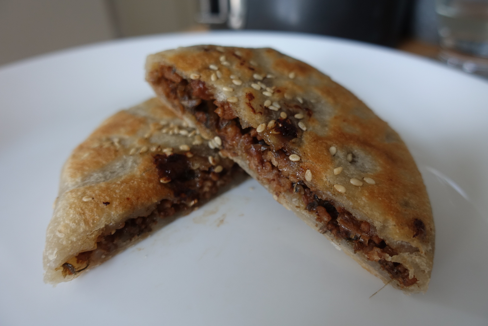
[[[342,37],[488,76],[488,0],[0,0],[0,65],[98,41],[213,29]]]

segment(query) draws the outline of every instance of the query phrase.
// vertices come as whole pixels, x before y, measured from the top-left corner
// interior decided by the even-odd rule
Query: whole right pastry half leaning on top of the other
[[[422,177],[398,134],[344,87],[272,49],[214,45],[150,55],[146,80],[368,271],[427,290],[434,224]]]

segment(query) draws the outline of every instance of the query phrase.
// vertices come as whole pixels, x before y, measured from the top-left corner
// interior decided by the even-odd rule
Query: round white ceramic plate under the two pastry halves
[[[61,165],[102,120],[141,102],[149,53],[272,46],[352,90],[424,176],[429,290],[382,287],[254,181],[57,287],[42,283]],[[488,83],[395,50],[284,33],[113,41],[0,68],[0,325],[487,325]],[[253,190],[249,188],[253,187]]]

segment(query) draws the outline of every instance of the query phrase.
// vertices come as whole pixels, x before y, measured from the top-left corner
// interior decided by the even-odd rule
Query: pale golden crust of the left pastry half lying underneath
[[[189,137],[175,127],[189,129],[158,99],[151,99],[108,118],[75,148],[63,167],[47,229],[45,282],[55,284],[77,276],[64,278],[61,265],[95,249],[99,236],[121,228],[128,219],[148,216],[162,200],[174,199],[170,184],[160,182],[154,163],[155,155],[163,154],[165,148],[202,156],[201,165],[208,165],[203,168],[211,166],[208,156],[218,157],[218,153],[202,143],[200,136],[190,133]],[[228,159],[224,163],[233,164]]]

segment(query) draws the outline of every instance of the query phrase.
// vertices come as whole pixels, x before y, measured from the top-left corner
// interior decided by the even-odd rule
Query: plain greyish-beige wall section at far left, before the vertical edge
[[[0,1],[0,64],[114,36],[102,0]]]

